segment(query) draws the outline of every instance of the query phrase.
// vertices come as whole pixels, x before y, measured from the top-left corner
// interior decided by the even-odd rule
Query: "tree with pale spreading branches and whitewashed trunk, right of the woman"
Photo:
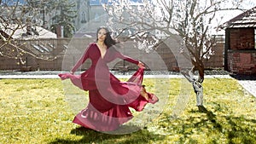
[[[168,41],[177,34],[183,46],[177,48],[192,63],[191,69],[181,72],[193,84],[197,106],[203,105],[202,83],[205,66],[203,60],[213,55],[219,12],[241,9],[242,0],[156,0],[135,3],[133,1],[111,1],[104,5],[109,14],[109,26],[118,32],[135,38],[140,43],[150,43],[145,49],[157,49],[159,43]],[[213,25],[214,24],[214,25]],[[161,35],[156,35],[156,32]],[[148,37],[150,37],[148,42]],[[145,42],[147,41],[147,42]],[[194,78],[195,71],[198,78]]]

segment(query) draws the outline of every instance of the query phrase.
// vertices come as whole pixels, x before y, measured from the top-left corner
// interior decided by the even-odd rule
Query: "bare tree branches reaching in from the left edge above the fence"
[[[55,60],[55,56],[35,55],[31,50],[26,49],[26,43],[19,43],[14,38],[15,32],[18,31],[24,32],[22,33],[23,36],[38,35],[39,32],[35,27],[42,26],[41,7],[36,7],[34,3],[26,3],[25,0],[5,0],[0,2],[0,55],[16,59],[18,65],[26,63],[24,55],[32,55],[41,60]]]

